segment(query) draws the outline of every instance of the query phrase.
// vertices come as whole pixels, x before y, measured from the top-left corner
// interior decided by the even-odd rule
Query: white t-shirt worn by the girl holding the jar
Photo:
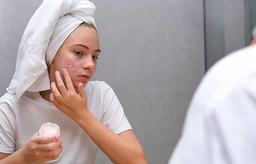
[[[85,91],[91,113],[114,133],[131,129],[123,108],[105,82],[89,82]],[[0,152],[13,153],[32,137],[43,123],[59,125],[63,152],[53,163],[94,163],[98,147],[75,123],[60,112],[51,102],[44,100],[39,92],[25,92],[18,102],[13,95],[0,99]]]

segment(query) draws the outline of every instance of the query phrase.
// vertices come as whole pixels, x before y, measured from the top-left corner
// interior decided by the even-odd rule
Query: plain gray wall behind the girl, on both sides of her
[[[203,1],[100,1],[95,80],[115,90],[148,163],[167,163],[205,71]],[[0,93],[15,70],[25,25],[41,1],[0,1]],[[99,152],[96,163],[110,163]]]

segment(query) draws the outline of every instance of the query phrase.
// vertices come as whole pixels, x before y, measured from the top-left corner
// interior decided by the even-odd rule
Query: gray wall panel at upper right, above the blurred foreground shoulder
[[[249,44],[251,29],[247,25],[247,1],[205,0],[207,69],[226,54]]]

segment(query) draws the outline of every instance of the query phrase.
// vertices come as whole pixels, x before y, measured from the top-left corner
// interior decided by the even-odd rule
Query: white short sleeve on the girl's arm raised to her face
[[[113,89],[104,82],[101,90],[103,91],[101,92],[104,112],[103,124],[117,134],[132,129]]]

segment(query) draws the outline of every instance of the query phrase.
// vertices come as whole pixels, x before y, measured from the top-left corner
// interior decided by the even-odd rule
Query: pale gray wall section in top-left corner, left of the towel
[[[19,42],[42,1],[0,1],[0,95],[13,78]]]

